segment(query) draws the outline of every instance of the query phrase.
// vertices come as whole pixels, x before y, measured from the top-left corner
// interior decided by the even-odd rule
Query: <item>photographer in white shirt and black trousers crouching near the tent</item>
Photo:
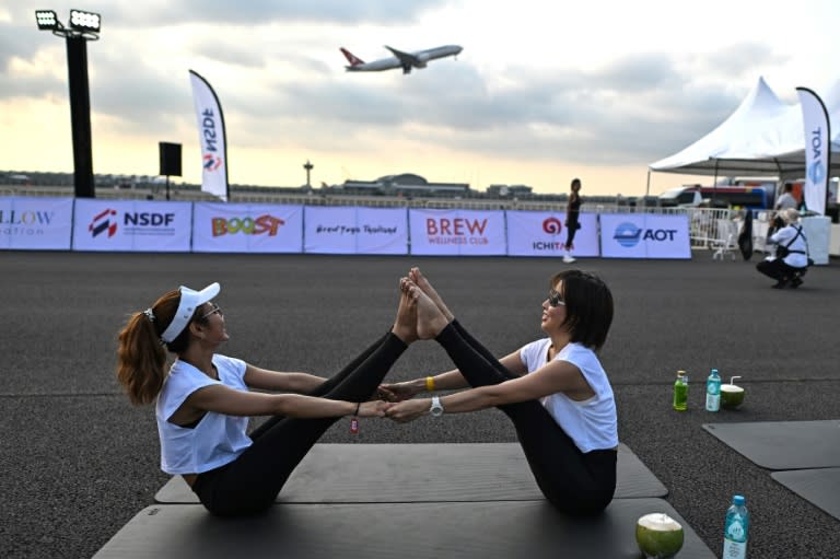
[[[796,289],[808,269],[808,241],[798,224],[798,211],[786,208],[779,211],[779,218],[784,226],[770,235],[770,242],[777,245],[775,256],[761,260],[756,269],[775,280],[774,289]]]

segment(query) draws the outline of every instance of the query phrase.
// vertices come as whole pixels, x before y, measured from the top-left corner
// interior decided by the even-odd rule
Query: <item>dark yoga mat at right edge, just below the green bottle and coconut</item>
[[[707,423],[703,429],[768,469],[840,467],[840,421]]]

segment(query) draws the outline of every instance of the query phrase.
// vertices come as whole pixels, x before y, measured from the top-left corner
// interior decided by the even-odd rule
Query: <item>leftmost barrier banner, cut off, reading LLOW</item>
[[[72,198],[0,198],[0,248],[69,251]]]

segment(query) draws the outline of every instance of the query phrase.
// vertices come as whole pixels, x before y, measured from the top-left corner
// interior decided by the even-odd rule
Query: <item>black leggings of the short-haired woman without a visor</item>
[[[517,379],[453,321],[435,338],[470,386]],[[537,486],[555,506],[573,515],[602,512],[616,490],[615,450],[582,453],[537,400],[499,406],[516,428]]]

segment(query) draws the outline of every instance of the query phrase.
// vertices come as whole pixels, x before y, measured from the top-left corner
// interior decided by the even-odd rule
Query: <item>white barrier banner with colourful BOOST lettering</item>
[[[303,207],[269,203],[195,202],[196,253],[300,253]]]

